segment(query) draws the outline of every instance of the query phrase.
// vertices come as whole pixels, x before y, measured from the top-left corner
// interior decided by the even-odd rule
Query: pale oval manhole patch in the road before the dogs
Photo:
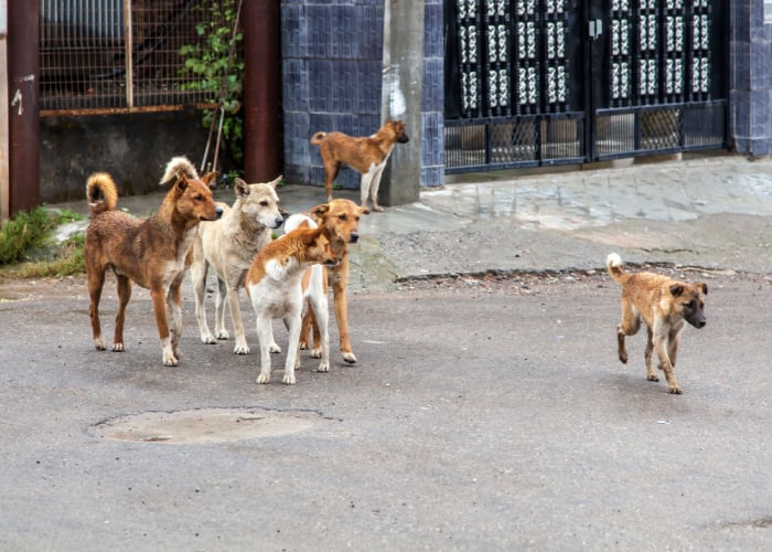
[[[320,417],[317,412],[256,407],[147,412],[107,420],[89,433],[132,443],[224,443],[302,432]]]

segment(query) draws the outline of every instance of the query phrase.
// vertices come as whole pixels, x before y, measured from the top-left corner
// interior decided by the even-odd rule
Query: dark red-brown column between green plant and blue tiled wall
[[[244,173],[267,182],[283,169],[279,0],[244,2]]]

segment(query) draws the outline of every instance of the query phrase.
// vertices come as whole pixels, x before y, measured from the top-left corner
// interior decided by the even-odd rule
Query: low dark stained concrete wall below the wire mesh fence
[[[84,199],[86,179],[109,172],[121,195],[158,189],[169,159],[187,156],[199,167],[208,129],[201,112],[42,117],[40,195],[44,202]]]

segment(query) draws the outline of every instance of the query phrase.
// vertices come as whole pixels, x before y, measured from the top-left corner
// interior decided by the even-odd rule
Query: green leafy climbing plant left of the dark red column
[[[196,10],[204,12],[204,7]],[[181,76],[191,77],[183,89],[203,91],[211,94],[212,102],[222,106],[223,137],[235,161],[244,159],[244,55],[240,44],[243,34],[234,34],[238,0],[213,0],[204,21],[196,25],[200,42],[185,44],[180,55],[185,60],[180,70]],[[222,102],[222,104],[219,104]],[[214,120],[216,130],[219,124],[219,108],[205,109],[202,117],[204,127],[210,128]]]

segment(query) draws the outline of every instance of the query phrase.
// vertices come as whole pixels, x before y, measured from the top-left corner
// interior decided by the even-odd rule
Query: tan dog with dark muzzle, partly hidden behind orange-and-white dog
[[[329,284],[332,285],[332,294],[334,301],[335,322],[337,323],[337,333],[341,344],[343,360],[353,364],[356,362],[356,357],[351,348],[351,338],[349,337],[349,300],[346,298],[346,288],[349,286],[349,244],[356,243],[360,240],[360,217],[363,214],[369,214],[367,208],[358,206],[351,200],[332,200],[329,203],[322,203],[311,209],[311,216],[319,222],[319,225],[324,229],[324,234],[330,240],[330,246],[333,252],[341,256],[341,262],[328,267]],[[326,294],[328,287],[324,286]],[[320,331],[314,320],[315,315],[313,308],[310,308],[308,316],[303,320],[303,330],[301,333],[300,344],[305,348],[309,344],[309,329],[313,327],[319,341]],[[315,357],[317,353],[312,353]]]

